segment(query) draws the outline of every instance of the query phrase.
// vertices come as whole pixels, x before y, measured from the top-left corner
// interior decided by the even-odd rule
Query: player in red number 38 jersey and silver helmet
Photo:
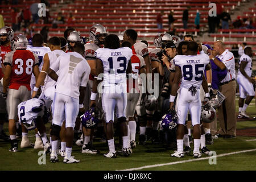
[[[3,97],[7,97],[7,111],[9,115],[9,133],[11,138],[11,152],[18,151],[18,143],[16,140],[17,106],[20,102],[27,101],[31,98],[30,80],[34,73],[37,78],[39,75],[39,59],[38,56],[27,51],[27,38],[24,35],[14,36],[11,40],[11,49],[13,51],[5,55],[3,61],[6,70],[3,77]],[[8,94],[7,87],[9,86]],[[24,127],[22,144],[20,147],[29,146],[30,142],[27,138],[27,129]]]

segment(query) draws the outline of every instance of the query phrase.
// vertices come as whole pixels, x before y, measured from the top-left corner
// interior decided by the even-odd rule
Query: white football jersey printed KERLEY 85
[[[205,54],[195,56],[175,56],[174,64],[181,69],[180,88],[190,88],[193,85],[196,86],[197,89],[200,89],[205,66],[209,61],[209,56]]]

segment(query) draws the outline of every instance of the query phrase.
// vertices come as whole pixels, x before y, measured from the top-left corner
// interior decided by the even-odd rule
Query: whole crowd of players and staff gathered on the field
[[[46,44],[40,34],[28,41],[14,36],[9,27],[1,28],[1,109],[7,110],[10,138],[2,130],[5,114],[0,129],[1,138],[10,140],[9,151],[18,151],[21,126],[20,148],[44,148],[51,162],[59,161],[58,155],[64,163],[80,162],[71,155],[73,144],[83,154],[98,154],[93,146],[96,131],[108,143],[107,158],[129,156],[146,140],[177,148],[171,154],[177,158],[191,153],[192,142],[195,158],[209,155],[211,130],[218,133],[215,109],[225,107],[225,101],[230,108],[234,105],[218,92],[219,86],[235,82],[234,57],[225,59],[231,52],[219,40],[211,47],[194,42],[192,35],[181,40],[159,34],[154,49],[137,37],[132,29],[108,35],[104,26],[95,24],[89,38],[68,28],[64,38],[52,37]],[[245,48],[237,78],[239,117],[249,117],[245,110],[254,97],[251,56],[251,48]],[[224,117],[228,128],[220,123],[218,136],[235,137],[236,115],[233,122],[230,114]],[[45,124],[50,120],[48,139]],[[35,130],[35,144],[28,140],[28,130]],[[115,150],[114,134],[120,151]]]

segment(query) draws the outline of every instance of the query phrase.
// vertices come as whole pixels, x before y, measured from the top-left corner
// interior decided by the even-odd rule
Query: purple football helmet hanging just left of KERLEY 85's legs
[[[177,115],[175,110],[170,110],[167,114],[162,117],[161,125],[163,129],[172,130],[177,126]]]

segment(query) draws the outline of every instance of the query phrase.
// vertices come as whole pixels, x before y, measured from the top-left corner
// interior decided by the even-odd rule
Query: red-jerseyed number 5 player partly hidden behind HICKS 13
[[[123,42],[122,47],[131,48],[129,42]],[[132,79],[127,81],[127,107],[126,107],[126,119],[128,121],[128,139],[129,139],[129,151],[130,147],[136,147],[136,122],[134,118],[135,108],[139,100],[141,90],[139,89],[139,75],[146,73],[145,63],[142,56],[133,55],[131,56],[131,67],[132,67]]]

